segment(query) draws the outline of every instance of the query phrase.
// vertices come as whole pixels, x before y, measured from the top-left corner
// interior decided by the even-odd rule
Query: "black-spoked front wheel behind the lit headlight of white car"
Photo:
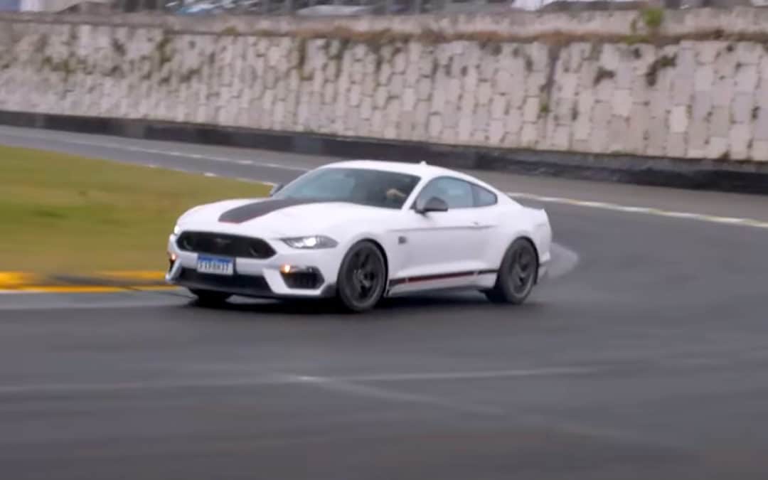
[[[342,260],[336,286],[337,299],[344,310],[372,310],[386,287],[386,262],[379,248],[367,240],[355,243]]]

